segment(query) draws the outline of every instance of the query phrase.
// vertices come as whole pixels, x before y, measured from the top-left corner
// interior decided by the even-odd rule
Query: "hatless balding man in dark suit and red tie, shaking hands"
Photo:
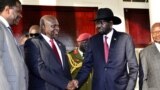
[[[65,90],[71,80],[66,50],[56,40],[59,23],[52,15],[40,19],[41,34],[25,43],[29,90]]]

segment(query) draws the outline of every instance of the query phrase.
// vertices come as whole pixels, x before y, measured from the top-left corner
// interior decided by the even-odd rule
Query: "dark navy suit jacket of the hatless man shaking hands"
[[[46,40],[40,35],[25,43],[25,60],[29,68],[29,90],[65,90],[71,74],[65,47],[57,41],[60,47],[64,66]]]

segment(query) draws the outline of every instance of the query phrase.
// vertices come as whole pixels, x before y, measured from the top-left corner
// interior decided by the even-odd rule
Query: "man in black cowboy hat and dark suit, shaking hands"
[[[138,64],[132,39],[112,28],[121,19],[109,8],[101,8],[94,21],[99,33],[90,38],[74,85],[80,87],[93,69],[92,90],[134,90]]]

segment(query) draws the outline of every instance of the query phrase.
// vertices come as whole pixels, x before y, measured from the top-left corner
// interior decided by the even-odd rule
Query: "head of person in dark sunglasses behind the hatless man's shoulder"
[[[32,25],[30,28],[29,28],[29,37],[32,38],[32,37],[37,37],[39,36],[40,34],[40,28],[39,28],[39,25]]]

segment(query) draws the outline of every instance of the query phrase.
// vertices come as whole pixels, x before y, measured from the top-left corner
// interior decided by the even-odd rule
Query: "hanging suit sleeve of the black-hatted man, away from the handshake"
[[[135,55],[135,47],[131,37],[126,42],[126,59],[129,68],[129,81],[126,90],[134,90],[138,75],[138,63]]]

